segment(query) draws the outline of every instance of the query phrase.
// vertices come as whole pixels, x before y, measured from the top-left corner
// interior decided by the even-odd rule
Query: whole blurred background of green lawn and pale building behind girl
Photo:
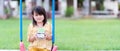
[[[51,22],[52,0],[23,0],[23,36],[31,10],[42,6]],[[59,50],[120,50],[120,0],[55,0]],[[0,49],[19,49],[19,0],[0,0]]]

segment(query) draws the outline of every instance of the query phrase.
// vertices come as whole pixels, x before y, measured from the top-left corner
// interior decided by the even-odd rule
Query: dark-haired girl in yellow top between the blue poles
[[[37,6],[32,10],[33,22],[28,27],[29,51],[50,51],[52,47],[51,24],[47,22],[46,11]]]

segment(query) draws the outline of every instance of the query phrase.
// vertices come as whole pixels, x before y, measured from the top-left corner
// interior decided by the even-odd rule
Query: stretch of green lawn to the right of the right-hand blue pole
[[[57,20],[56,44],[70,50],[118,50],[119,25],[119,20]]]

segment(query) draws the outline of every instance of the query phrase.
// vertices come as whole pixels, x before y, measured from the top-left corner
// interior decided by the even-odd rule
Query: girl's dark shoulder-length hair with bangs
[[[45,9],[43,7],[41,7],[41,6],[37,6],[37,7],[33,8],[32,15],[34,15],[34,12],[36,12],[39,15],[44,15],[44,20],[43,20],[43,26],[44,26],[46,24],[46,22],[47,22],[47,16],[46,16]],[[32,19],[33,19],[33,26],[36,26],[37,22],[35,21],[33,16],[32,16]]]

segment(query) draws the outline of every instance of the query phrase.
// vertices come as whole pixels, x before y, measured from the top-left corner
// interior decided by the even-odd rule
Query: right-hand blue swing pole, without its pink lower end
[[[52,43],[55,42],[55,0],[52,0]]]

